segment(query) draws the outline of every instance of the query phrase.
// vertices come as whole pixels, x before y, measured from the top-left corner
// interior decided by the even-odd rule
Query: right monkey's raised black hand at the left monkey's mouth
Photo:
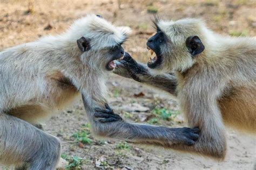
[[[136,62],[129,53],[125,52],[123,60],[116,62],[114,73],[135,81],[143,82],[142,76],[148,75],[147,68]]]

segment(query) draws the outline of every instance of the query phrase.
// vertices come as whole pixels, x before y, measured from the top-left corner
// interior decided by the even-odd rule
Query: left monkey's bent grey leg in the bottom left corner
[[[0,161],[28,169],[55,169],[60,141],[16,117],[0,114]]]

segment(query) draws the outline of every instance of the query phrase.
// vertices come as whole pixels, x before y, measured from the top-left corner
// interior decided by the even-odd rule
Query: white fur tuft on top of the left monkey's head
[[[91,48],[98,50],[122,44],[128,38],[130,32],[129,27],[117,27],[104,18],[90,14],[77,19],[65,34],[72,40],[81,37],[89,38],[91,39]]]

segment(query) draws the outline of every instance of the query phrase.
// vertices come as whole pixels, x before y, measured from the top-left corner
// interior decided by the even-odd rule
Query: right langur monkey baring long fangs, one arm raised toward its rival
[[[188,125],[199,126],[196,144],[168,147],[223,160],[224,125],[256,132],[256,39],[220,36],[200,19],[156,19],[154,25],[147,48],[156,56],[148,67],[127,55],[114,73],[177,97]]]

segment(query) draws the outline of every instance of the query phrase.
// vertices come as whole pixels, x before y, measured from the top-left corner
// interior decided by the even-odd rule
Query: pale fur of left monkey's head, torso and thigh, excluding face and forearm
[[[94,35],[94,37],[93,37]],[[91,39],[81,53],[76,40]],[[127,29],[88,15],[68,31],[0,52],[0,162],[29,169],[54,169],[60,141],[32,124],[58,112],[79,91],[103,103],[107,49],[123,42]],[[103,57],[104,56],[104,57]],[[91,103],[92,104],[92,103]]]

